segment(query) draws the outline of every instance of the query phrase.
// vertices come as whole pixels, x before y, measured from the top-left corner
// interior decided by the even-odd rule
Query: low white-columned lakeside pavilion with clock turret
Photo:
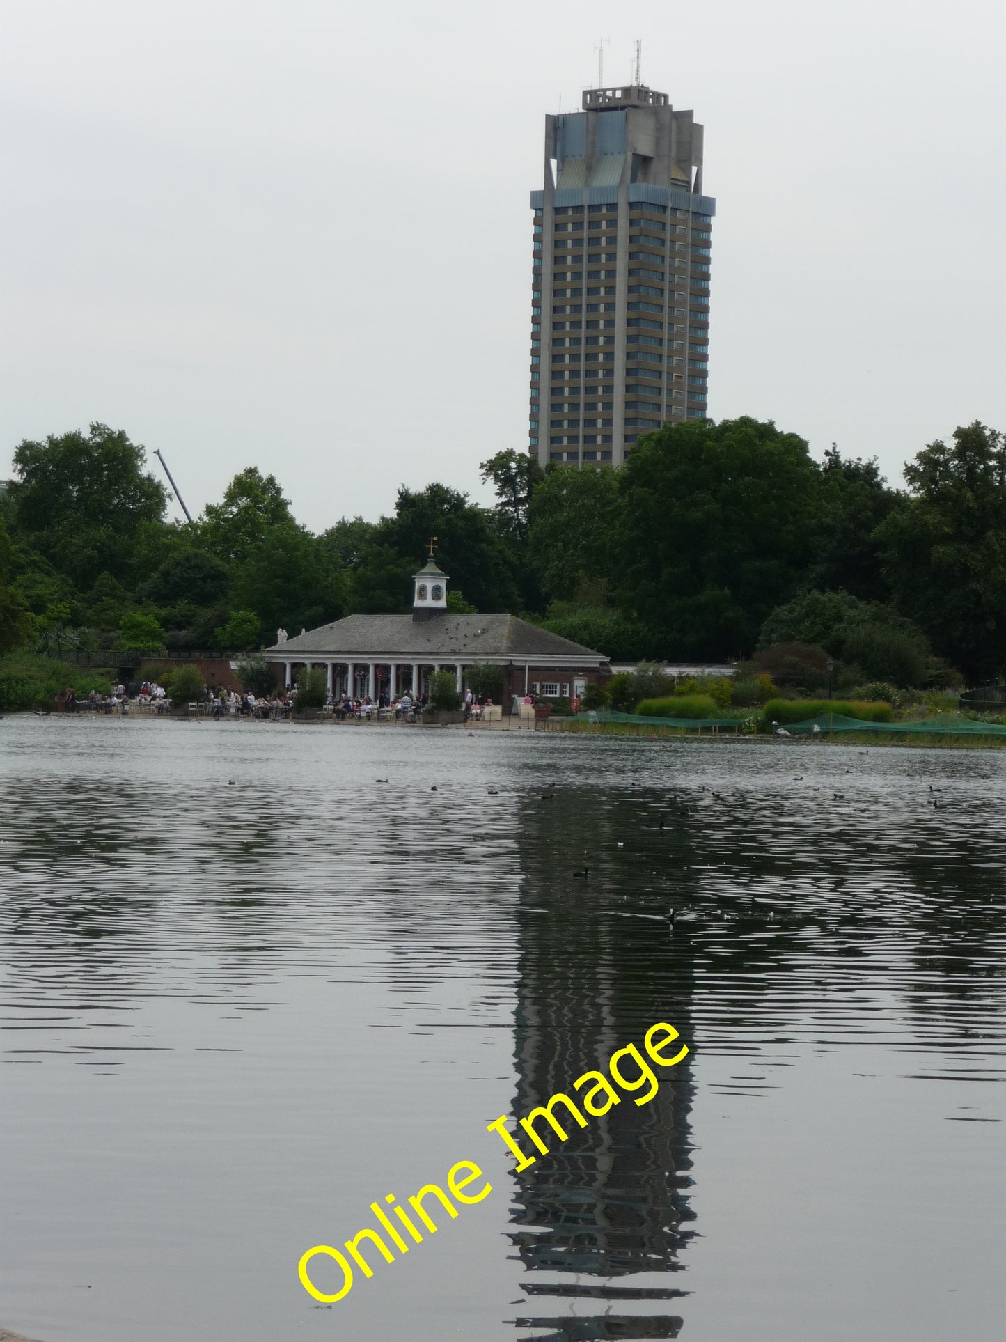
[[[514,615],[457,615],[447,607],[448,576],[432,553],[413,574],[410,615],[347,615],[267,648],[291,686],[298,674],[321,667],[337,698],[369,696],[389,702],[406,690],[429,692],[435,671],[452,671],[464,690],[465,668],[503,670],[503,703],[533,694],[541,699],[579,696],[590,682],[610,675],[608,658],[570,639],[549,633]]]

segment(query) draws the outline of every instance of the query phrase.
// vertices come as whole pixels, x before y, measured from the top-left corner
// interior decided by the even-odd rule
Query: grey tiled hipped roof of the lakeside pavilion
[[[480,656],[566,658],[570,663],[605,662],[604,652],[585,648],[558,633],[539,629],[515,615],[444,615],[432,620],[413,620],[410,615],[347,615],[345,620],[323,624],[307,633],[298,633],[286,643],[276,643],[267,652],[283,655],[287,662],[313,656],[358,656],[361,660],[394,656],[402,662],[448,660],[451,656],[478,660]]]

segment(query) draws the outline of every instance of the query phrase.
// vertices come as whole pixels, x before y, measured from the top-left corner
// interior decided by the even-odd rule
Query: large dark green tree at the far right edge
[[[968,683],[1006,668],[1006,443],[975,421],[905,464],[909,498],[877,527],[899,608]]]

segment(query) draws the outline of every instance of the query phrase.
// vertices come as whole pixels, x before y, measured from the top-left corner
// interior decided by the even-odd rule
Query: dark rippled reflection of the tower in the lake
[[[573,1082],[590,1068],[606,1072],[610,1055],[628,1043],[645,1056],[645,1032],[656,1021],[668,1021],[689,1040],[692,966],[681,939],[676,943],[659,918],[669,903],[667,876],[653,874],[655,854],[640,854],[634,844],[629,852],[617,848],[626,832],[640,833],[645,800],[641,794],[629,803],[610,793],[559,792],[546,815],[538,811],[522,819],[526,879],[519,906],[512,1107],[518,1118],[557,1091],[575,1100]],[[573,880],[585,852],[590,878]],[[636,915],[641,913],[649,917]],[[512,1210],[514,1223],[527,1227],[512,1239],[530,1274],[622,1278],[681,1267],[677,1255],[692,1219],[687,1205],[691,1070],[688,1059],[672,1071],[653,1070],[660,1088],[648,1103],[637,1106],[632,1092],[622,1092],[621,1103],[608,1114],[585,1115],[585,1129],[573,1119],[566,1123],[559,1106],[569,1139],[561,1142],[547,1125],[539,1125],[547,1155],[534,1151],[518,1130],[524,1149],[537,1154],[530,1169],[515,1174]],[[628,1059],[624,1072],[634,1074]],[[652,1280],[633,1287],[526,1278],[520,1284],[535,1296],[610,1302],[683,1294],[671,1282],[661,1287]],[[550,1334],[555,1342],[675,1337],[681,1325],[679,1318],[610,1312],[590,1319],[519,1321],[531,1322],[557,1327]]]

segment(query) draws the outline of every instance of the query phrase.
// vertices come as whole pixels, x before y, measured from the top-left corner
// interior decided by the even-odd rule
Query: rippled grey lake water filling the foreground
[[[7,717],[0,1326],[998,1339],[1005,796],[995,752]],[[660,1020],[657,1095],[514,1174],[486,1125]],[[307,1295],[461,1159],[491,1194]]]

